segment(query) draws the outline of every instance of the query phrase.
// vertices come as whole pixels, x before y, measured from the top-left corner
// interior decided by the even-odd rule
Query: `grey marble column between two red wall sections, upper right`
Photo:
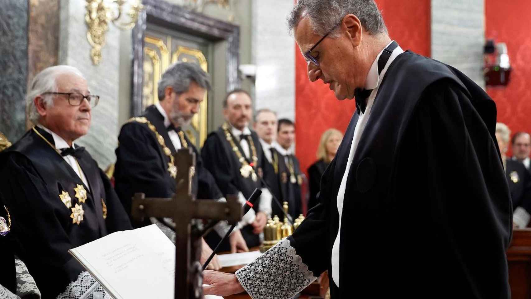
[[[432,0],[431,13],[432,57],[484,88],[485,1]]]

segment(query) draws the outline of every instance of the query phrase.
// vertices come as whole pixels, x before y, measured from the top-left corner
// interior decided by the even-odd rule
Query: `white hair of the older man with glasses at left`
[[[71,73],[80,76],[84,79],[83,74],[76,68],[70,65],[55,65],[47,67],[40,71],[33,80],[31,80],[30,89],[26,93],[26,107],[28,107],[28,119],[33,124],[37,124],[40,114],[33,100],[41,96],[46,107],[53,107],[54,101],[52,95],[42,96],[45,92],[57,91],[57,76],[65,73]]]

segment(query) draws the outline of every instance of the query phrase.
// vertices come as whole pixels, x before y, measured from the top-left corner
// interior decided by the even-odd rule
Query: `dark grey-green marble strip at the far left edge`
[[[0,132],[14,142],[25,132],[28,78],[28,2],[4,0],[0,9]]]

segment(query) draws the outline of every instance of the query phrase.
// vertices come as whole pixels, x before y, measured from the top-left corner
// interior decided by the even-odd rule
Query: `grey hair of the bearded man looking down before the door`
[[[188,91],[192,82],[195,82],[199,87],[207,91],[211,88],[210,76],[201,69],[199,64],[177,62],[168,67],[159,80],[159,101],[164,100],[164,90],[166,87],[172,87],[177,95],[180,95]]]

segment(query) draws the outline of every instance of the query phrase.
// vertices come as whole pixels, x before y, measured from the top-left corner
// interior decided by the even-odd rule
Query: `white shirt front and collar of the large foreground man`
[[[391,41],[392,42],[392,41]],[[388,47],[391,42],[386,46]],[[372,104],[374,102],[374,99],[376,98],[376,93],[378,93],[378,89],[380,88],[380,83],[383,80],[383,76],[386,74],[387,69],[389,68],[389,65],[395,60],[395,58],[404,53],[404,50],[400,48],[400,46],[396,47],[395,50],[393,50],[393,53],[389,57],[389,60],[386,63],[386,66],[383,68],[382,73],[378,74],[378,59],[380,58],[380,55],[382,55],[383,50],[376,56],[376,59],[372,63],[371,69],[369,70],[369,74],[367,74],[367,79],[365,82],[365,89],[372,89],[371,95],[367,99],[367,107],[365,109],[365,113],[361,113],[358,118],[358,122],[356,124],[356,129],[354,129],[354,138],[352,139],[352,146],[350,147],[350,152],[348,154],[348,160],[347,160],[347,168],[345,169],[345,174],[343,174],[343,178],[341,180],[341,184],[339,185],[339,192],[337,194],[337,210],[339,212],[339,230],[337,232],[336,241],[333,243],[332,247],[332,279],[334,283],[336,283],[336,286],[339,287],[339,236],[341,235],[341,216],[343,212],[343,201],[345,199],[345,190],[347,185],[347,178],[348,173],[350,170],[350,165],[352,165],[352,161],[354,159],[354,153],[356,152],[356,148],[358,146],[359,139],[361,138],[361,135],[363,133],[363,130],[365,129],[365,125],[367,124],[367,121],[369,117],[371,116],[371,110],[372,110]],[[380,99],[385,100],[385,99]],[[378,117],[378,116],[375,116]]]

